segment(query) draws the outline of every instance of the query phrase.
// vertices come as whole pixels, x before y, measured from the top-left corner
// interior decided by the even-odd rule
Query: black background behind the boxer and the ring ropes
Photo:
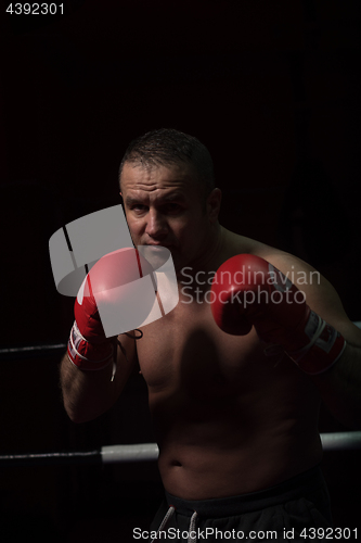
[[[55,290],[49,238],[118,203],[127,144],[157,127],[208,147],[223,226],[311,263],[361,320],[358,0],[67,0],[64,15],[37,17],[10,15],[9,4],[0,17],[2,350],[67,340],[74,300]],[[108,414],[73,425],[60,356],[2,353],[2,455],[153,441],[138,375]],[[320,431],[343,429],[322,411]],[[359,466],[358,452],[325,454],[338,527],[359,523]],[[0,466],[0,536],[131,541],[160,495],[153,464]]]

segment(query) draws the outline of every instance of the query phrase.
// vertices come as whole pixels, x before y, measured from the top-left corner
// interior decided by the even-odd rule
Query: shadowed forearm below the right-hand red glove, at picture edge
[[[347,344],[328,370],[311,378],[333,416],[346,427],[361,429],[361,349]]]

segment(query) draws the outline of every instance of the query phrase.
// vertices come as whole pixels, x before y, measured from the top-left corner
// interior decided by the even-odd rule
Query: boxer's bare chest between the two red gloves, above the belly
[[[138,356],[152,392],[182,390],[191,396],[219,397],[243,389],[249,392],[256,382],[259,389],[269,378],[269,363],[256,332],[224,333],[207,303],[179,304],[142,331]]]

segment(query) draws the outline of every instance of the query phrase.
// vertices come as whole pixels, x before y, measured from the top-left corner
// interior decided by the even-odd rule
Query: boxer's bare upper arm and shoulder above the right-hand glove
[[[361,346],[361,330],[348,318],[339,295],[327,279],[306,262],[287,253],[266,260],[305,292],[312,311],[339,331],[348,343]]]

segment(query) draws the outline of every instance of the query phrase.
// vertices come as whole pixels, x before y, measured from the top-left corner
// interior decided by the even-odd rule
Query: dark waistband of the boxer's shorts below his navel
[[[275,487],[249,494],[211,500],[182,500],[166,492],[166,500],[169,506],[172,505],[177,513],[182,515],[192,516],[197,512],[208,518],[229,517],[289,502],[324,485],[325,481],[318,465]]]

